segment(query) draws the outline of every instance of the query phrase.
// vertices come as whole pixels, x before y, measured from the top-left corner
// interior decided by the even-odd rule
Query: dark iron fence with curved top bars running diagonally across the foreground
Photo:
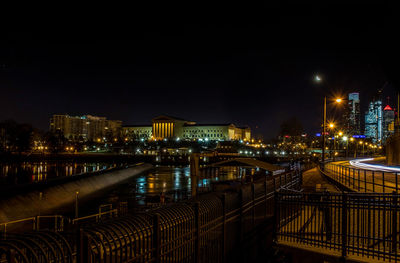
[[[0,241],[0,262],[224,262],[273,217],[274,192],[300,186],[301,173],[292,171],[149,212],[97,217],[97,223],[65,227],[57,233],[63,239],[46,237],[35,246],[21,240],[43,236],[42,231],[8,235]]]

